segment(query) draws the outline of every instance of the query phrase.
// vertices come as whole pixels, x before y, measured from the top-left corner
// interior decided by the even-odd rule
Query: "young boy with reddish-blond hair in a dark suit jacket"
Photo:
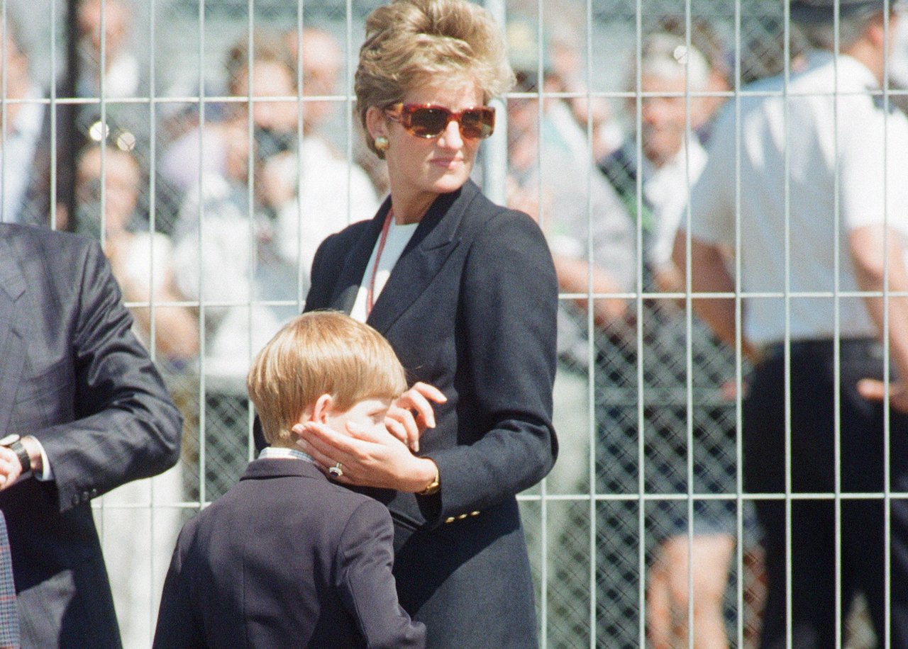
[[[424,646],[425,626],[398,604],[388,510],[329,481],[291,430],[390,434],[385,414],[407,387],[390,344],[346,315],[301,315],[246,384],[271,446],[183,527],[154,647]]]

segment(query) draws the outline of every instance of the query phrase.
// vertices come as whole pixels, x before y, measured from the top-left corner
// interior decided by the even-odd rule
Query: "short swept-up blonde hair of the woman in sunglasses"
[[[413,88],[476,82],[489,102],[514,86],[505,40],[489,12],[469,0],[393,0],[366,19],[354,90],[366,144],[370,106],[402,102]]]

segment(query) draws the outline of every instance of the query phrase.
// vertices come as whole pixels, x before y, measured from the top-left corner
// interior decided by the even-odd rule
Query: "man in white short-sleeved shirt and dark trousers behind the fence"
[[[908,646],[908,503],[848,497],[908,489],[908,300],[888,295],[908,289],[908,120],[880,90],[894,4],[792,0],[814,48],[806,68],[729,106],[691,196],[691,290],[735,292],[730,247],[747,295],[741,345],[757,364],[744,405],[745,491],[775,495],[756,500],[764,647],[834,646],[836,611],[847,615],[858,592],[880,644]],[[676,239],[682,268],[685,239]],[[736,344],[735,300],[694,306]],[[886,344],[889,413],[873,402],[885,390]],[[812,496],[788,501],[789,492]]]

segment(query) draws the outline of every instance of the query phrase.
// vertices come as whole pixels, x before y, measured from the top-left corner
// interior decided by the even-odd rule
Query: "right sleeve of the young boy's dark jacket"
[[[337,553],[337,586],[366,646],[376,649],[426,646],[426,627],[400,607],[391,567],[394,528],[378,501],[353,512]]]

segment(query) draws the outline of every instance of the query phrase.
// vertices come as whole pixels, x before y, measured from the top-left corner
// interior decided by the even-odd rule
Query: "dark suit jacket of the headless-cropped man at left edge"
[[[182,419],[101,247],[0,224],[0,433],[34,435],[54,479],[0,491],[24,647],[119,647],[90,500],[172,467]]]

